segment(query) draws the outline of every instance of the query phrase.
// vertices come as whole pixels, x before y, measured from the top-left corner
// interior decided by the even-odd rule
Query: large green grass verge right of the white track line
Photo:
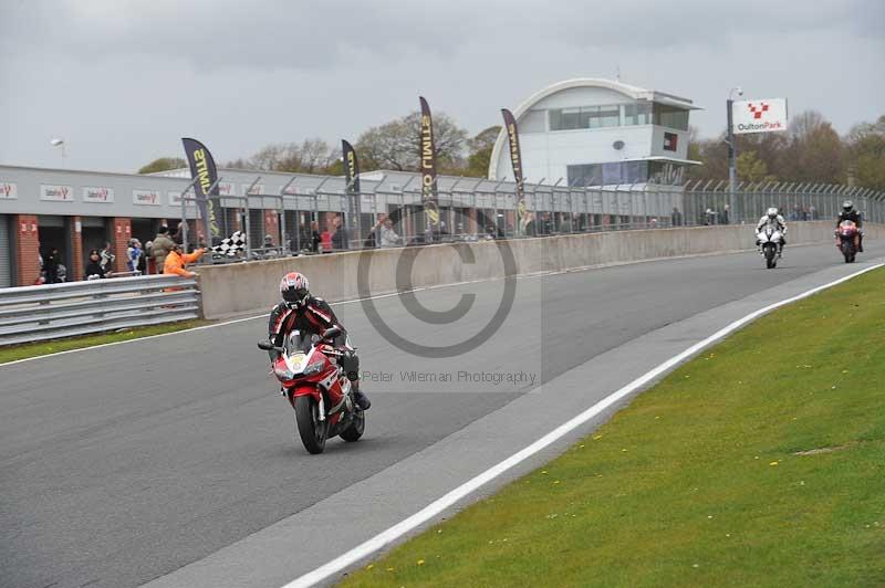
[[[885,586],[883,292],[761,318],[343,586]]]

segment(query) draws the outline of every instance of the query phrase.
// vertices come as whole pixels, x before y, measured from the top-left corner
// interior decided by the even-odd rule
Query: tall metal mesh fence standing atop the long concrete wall
[[[845,186],[745,182],[732,193],[725,180],[586,188],[528,183],[520,203],[511,182],[447,178],[438,190],[441,222],[428,231],[421,195],[417,187],[409,189],[417,182],[392,186],[382,179],[374,182],[372,191],[362,193],[324,190],[326,183],[323,180],[310,189],[293,188],[292,193],[283,190],[282,195],[222,197],[223,230],[229,234],[235,230],[233,219],[242,219],[239,228],[249,237],[248,250],[238,258],[216,256],[215,261],[429,242],[754,223],[772,206],[780,208],[788,222],[822,220],[835,218],[845,199],[854,200],[867,220],[885,220],[885,193]],[[249,209],[250,200],[262,208]],[[272,231],[264,222],[268,212],[277,216]],[[270,238],[267,245],[266,237]]]

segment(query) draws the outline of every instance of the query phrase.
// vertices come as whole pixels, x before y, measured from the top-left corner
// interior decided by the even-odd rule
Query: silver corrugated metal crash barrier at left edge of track
[[[0,288],[0,345],[197,318],[192,279],[150,275]]]

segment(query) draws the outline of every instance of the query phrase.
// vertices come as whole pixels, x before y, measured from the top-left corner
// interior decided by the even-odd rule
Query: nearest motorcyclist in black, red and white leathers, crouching
[[[292,330],[322,336],[327,328],[339,327],[341,334],[335,336],[332,345],[342,353],[339,361],[347,379],[351,380],[354,402],[362,410],[368,410],[372,402],[360,389],[360,358],[351,347],[347,332],[339,323],[329,303],[323,298],[311,296],[309,288],[310,283],[303,274],[290,272],[283,276],[280,282],[280,294],[283,300],[270,313],[269,338],[274,346],[281,347]],[[279,351],[271,350],[270,354],[271,360],[275,360]]]

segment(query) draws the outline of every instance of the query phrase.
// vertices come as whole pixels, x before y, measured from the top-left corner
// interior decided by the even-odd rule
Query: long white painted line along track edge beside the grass
[[[720,328],[719,330],[717,330],[716,333],[714,333],[712,335],[710,335],[706,339],[696,343],[695,345],[690,346],[689,348],[687,348],[683,353],[673,356],[671,358],[667,359],[666,361],[664,361],[663,364],[660,364],[657,367],[653,368],[652,370],[646,371],[644,375],[639,376],[638,378],[636,378],[632,382],[627,384],[626,386],[622,387],[621,389],[616,390],[615,392],[608,395],[604,399],[600,400],[598,402],[596,402],[595,405],[593,405],[592,407],[586,409],[584,412],[577,414],[576,417],[572,418],[571,420],[569,420],[569,421],[564,422],[563,424],[559,426],[556,429],[554,429],[553,431],[549,432],[548,434],[545,434],[544,437],[542,437],[541,439],[539,439],[534,443],[532,443],[529,447],[522,449],[521,451],[512,454],[508,459],[506,459],[502,462],[498,463],[497,465],[493,465],[492,468],[486,470],[485,472],[482,472],[479,475],[472,477],[471,480],[468,480],[467,482],[465,482],[460,486],[456,487],[455,490],[448,492],[447,494],[445,494],[440,498],[437,498],[436,501],[431,502],[430,504],[428,504],[427,506],[425,506],[424,508],[421,508],[420,511],[418,511],[414,515],[409,516],[408,518],[405,518],[404,521],[400,521],[396,525],[394,525],[394,526],[389,527],[388,529],[379,533],[378,535],[375,535],[374,537],[372,537],[371,539],[366,540],[365,543],[363,543],[361,545],[357,545],[353,549],[351,549],[351,550],[346,552],[345,554],[336,557],[332,561],[329,561],[327,564],[325,564],[323,566],[320,566],[319,568],[314,569],[313,571],[309,571],[308,574],[304,574],[303,576],[300,576],[300,577],[295,578],[294,580],[292,580],[291,582],[287,584],[282,588],[306,588],[306,587],[310,587],[310,586],[314,586],[315,584],[329,578],[333,574],[336,574],[336,573],[345,569],[346,567],[352,566],[353,564],[360,561],[361,559],[363,559],[365,557],[368,557],[369,555],[372,555],[373,553],[377,552],[378,549],[382,549],[383,547],[392,544],[393,542],[395,542],[396,539],[398,539],[399,537],[402,537],[406,533],[410,532],[412,529],[418,527],[419,525],[428,522],[433,517],[439,515],[446,508],[452,506],[458,501],[460,501],[460,500],[465,498],[466,496],[468,496],[469,494],[473,493],[476,490],[478,490],[479,487],[483,486],[488,482],[494,480],[496,477],[498,477],[499,475],[501,475],[506,471],[508,471],[511,468],[518,465],[519,463],[525,461],[530,456],[534,455],[539,451],[543,450],[548,445],[554,443],[555,441],[558,441],[559,439],[561,439],[565,434],[570,433],[571,431],[573,431],[577,427],[584,424],[585,422],[587,422],[592,418],[598,416],[605,409],[610,408],[612,405],[614,405],[617,401],[622,400],[624,397],[631,395],[635,390],[642,388],[643,386],[645,386],[649,381],[654,380],[655,378],[657,378],[662,374],[668,371],[669,369],[671,369],[673,367],[677,366],[681,361],[686,360],[687,358],[689,358],[689,357],[694,356],[695,354],[697,354],[698,351],[702,350],[705,347],[708,347],[708,346],[712,345],[714,343],[717,343],[719,339],[721,339],[721,338],[726,337],[727,335],[733,333],[735,330],[739,329],[740,327],[742,327],[747,323],[750,323],[751,321],[758,318],[759,316],[761,316],[763,314],[767,314],[767,313],[770,313],[771,311],[774,311],[777,308],[780,308],[781,306],[785,306],[788,304],[792,304],[792,303],[794,303],[796,301],[800,301],[802,298],[806,298],[809,296],[812,296],[812,295],[814,295],[814,294],[816,294],[816,293],[819,293],[819,292],[821,292],[823,290],[833,287],[835,285],[839,285],[839,284],[843,283],[843,282],[847,282],[848,280],[852,280],[853,277],[857,277],[858,275],[865,274],[866,272],[870,272],[870,271],[873,271],[873,270],[877,270],[877,269],[879,269],[882,266],[885,266],[885,263],[878,263],[878,264],[872,265],[870,267],[864,267],[863,270],[861,270],[858,272],[854,272],[854,273],[848,274],[848,275],[846,275],[844,277],[840,277],[839,280],[835,280],[833,282],[829,282],[826,284],[823,284],[823,285],[820,285],[820,286],[815,286],[815,287],[813,287],[811,290],[802,292],[801,294],[796,294],[795,296],[792,296],[790,298],[785,298],[785,300],[782,300],[780,302],[775,302],[773,304],[769,304],[768,306],[766,306],[763,308],[754,311],[754,312],[743,316],[742,318],[739,318],[739,319],[735,321],[733,323],[730,323],[729,325],[726,325],[725,327]]]

